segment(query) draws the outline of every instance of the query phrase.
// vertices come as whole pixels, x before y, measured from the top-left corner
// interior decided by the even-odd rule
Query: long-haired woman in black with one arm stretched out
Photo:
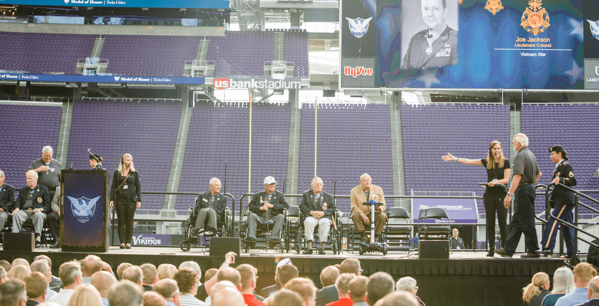
[[[489,186],[485,188],[483,194],[483,203],[485,203],[486,212],[486,232],[489,241],[489,253],[486,256],[492,257],[495,253],[495,212],[499,221],[499,231],[501,235],[501,246],[506,244],[507,238],[507,209],[503,205],[503,199],[506,197],[506,188],[495,186],[495,184],[507,185],[510,181],[510,160],[503,156],[501,142],[493,140],[489,144],[487,158],[480,160],[468,160],[467,158],[457,158],[449,152],[441,157],[444,161],[457,161],[458,163],[485,166]],[[492,163],[488,161],[492,160]]]

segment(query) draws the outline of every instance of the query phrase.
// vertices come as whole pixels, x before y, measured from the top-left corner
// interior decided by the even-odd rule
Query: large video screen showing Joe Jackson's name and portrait
[[[340,6],[341,89],[599,89],[597,0]],[[591,73],[595,81],[585,81]]]

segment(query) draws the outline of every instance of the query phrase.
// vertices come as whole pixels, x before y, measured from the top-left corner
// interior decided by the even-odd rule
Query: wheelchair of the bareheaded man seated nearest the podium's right
[[[195,198],[195,204],[198,205],[198,198]],[[192,248],[192,246],[197,247],[198,243],[200,242],[198,237],[196,237],[196,235],[193,235],[193,231],[195,230],[195,221],[196,221],[196,219],[198,219],[198,214],[195,213],[194,207],[189,206],[189,207],[187,207],[187,210],[189,211],[189,215],[187,216],[187,219],[185,221],[185,238],[179,244],[179,247],[181,248],[181,250],[183,252],[189,251]],[[208,219],[206,219],[206,222],[208,222]],[[207,228],[207,225],[204,225],[204,228]],[[221,219],[219,222],[216,222],[216,228],[217,228],[217,233],[219,234],[220,237],[232,237],[233,215],[232,215],[229,207],[225,207],[225,218]],[[202,234],[203,232],[206,232],[206,231],[207,230],[204,230],[202,232],[199,232],[198,234]],[[207,241],[206,241],[207,237],[214,237],[214,235],[217,233],[213,232],[210,235],[204,234],[202,236],[203,241],[202,241],[202,244],[200,244],[200,246],[207,244]],[[210,241],[210,240],[208,240],[208,241]]]

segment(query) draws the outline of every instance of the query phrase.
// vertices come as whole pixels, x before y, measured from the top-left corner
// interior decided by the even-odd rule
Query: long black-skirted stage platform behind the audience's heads
[[[205,253],[204,253],[205,251]],[[320,285],[320,271],[328,265],[340,264],[346,258],[360,259],[365,276],[385,271],[395,280],[404,276],[418,281],[418,296],[426,305],[521,305],[522,287],[530,283],[538,272],[553,276],[553,271],[564,266],[561,258],[493,258],[486,252],[460,251],[450,254],[449,259],[418,259],[418,255],[408,252],[390,251],[386,256],[380,253],[358,255],[358,252],[344,252],[332,255],[302,255],[295,252],[280,253],[275,250],[250,250],[241,253],[235,264],[251,264],[258,268],[259,293],[262,287],[274,284],[274,271],[277,262],[291,258],[302,277],[310,277]],[[25,258],[31,262],[35,256],[47,255],[52,259],[53,275],[58,276],[60,264],[72,259],[83,259],[87,253],[61,252],[59,249],[37,248],[35,252],[0,251],[0,259],[11,262],[15,258]],[[206,254],[206,255],[204,255]],[[218,268],[223,257],[208,256],[207,249],[193,248],[183,252],[178,247],[133,246],[132,249],[110,247],[107,253],[95,253],[113,267],[122,262],[141,265],[150,262],[156,266],[184,261],[196,261],[203,271]]]

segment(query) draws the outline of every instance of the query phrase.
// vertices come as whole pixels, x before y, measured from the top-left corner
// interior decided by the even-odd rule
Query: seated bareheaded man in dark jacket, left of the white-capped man
[[[195,204],[195,213],[198,218],[195,221],[194,235],[204,232],[205,235],[216,234],[217,222],[225,218],[226,196],[220,194],[220,180],[210,179],[210,191],[202,192],[198,195],[198,201]],[[208,218],[208,221],[206,221]],[[207,228],[204,224],[208,222]]]

